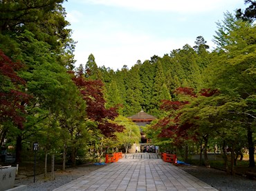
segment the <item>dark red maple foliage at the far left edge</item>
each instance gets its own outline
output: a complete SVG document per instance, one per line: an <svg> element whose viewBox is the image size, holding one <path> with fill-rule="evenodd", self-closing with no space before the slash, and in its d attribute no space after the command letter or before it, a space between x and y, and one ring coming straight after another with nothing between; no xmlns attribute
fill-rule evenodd
<svg viewBox="0 0 256 191"><path fill-rule="evenodd" d="M26 81L20 78L15 71L21 69L22 65L19 62L12 62L0 50L0 75L3 79L6 78L16 86L15 89L8 87L10 84L1 84L0 87L0 122L12 121L20 129L23 128L25 121L24 107L28 104L31 96L27 93L19 91L18 84L26 84ZM7 81L8 81L7 80Z"/></svg>

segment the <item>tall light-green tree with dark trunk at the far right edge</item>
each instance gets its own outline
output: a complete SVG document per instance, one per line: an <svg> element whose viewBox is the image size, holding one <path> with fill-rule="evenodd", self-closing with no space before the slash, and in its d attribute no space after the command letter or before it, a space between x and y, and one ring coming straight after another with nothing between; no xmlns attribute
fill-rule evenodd
<svg viewBox="0 0 256 191"><path fill-rule="evenodd" d="M255 25L236 19L229 12L223 23L218 24L214 41L218 45L214 62L208 71L211 87L218 88L221 93L230 97L230 104L236 105L231 111L234 120L244 123L248 134L250 166L255 166L253 132L255 128L255 112L248 100L255 98ZM227 106L230 104L226 104Z"/></svg>

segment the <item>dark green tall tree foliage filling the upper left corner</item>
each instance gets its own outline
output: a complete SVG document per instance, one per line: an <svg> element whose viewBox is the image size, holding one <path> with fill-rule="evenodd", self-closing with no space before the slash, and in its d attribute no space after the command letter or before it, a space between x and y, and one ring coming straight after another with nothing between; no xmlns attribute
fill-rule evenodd
<svg viewBox="0 0 256 191"><path fill-rule="evenodd" d="M73 69L74 44L71 30L67 28L63 0L51 1L1 1L0 48L9 57L16 58L21 51L16 35L25 30L35 35L35 39L46 42L55 51L60 64Z"/></svg>

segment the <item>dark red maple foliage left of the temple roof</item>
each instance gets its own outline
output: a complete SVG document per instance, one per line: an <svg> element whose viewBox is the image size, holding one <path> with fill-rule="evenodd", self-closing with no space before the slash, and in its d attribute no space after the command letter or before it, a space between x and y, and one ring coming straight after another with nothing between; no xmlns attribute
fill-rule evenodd
<svg viewBox="0 0 256 191"><path fill-rule="evenodd" d="M103 95L103 83L100 80L86 80L82 73L74 75L73 82L80 89L83 99L86 101L86 113L88 118L98 122L98 129L105 136L113 136L113 132L122 131L123 127L107 122L107 119L113 120L118 116L116 108L106 109Z"/></svg>

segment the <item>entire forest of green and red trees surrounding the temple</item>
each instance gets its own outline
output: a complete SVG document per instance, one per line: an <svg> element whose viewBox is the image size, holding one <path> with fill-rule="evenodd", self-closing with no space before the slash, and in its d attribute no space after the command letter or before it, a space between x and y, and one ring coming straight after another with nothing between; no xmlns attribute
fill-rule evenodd
<svg viewBox="0 0 256 191"><path fill-rule="evenodd" d="M12 146L16 163L33 153L33 143L45 161L61 158L63 169L98 160L128 134L139 142L127 116L143 109L158 118L143 131L162 148L188 158L197 147L207 165L210 145L224 160L228 146L231 171L246 148L255 167L255 1L223 15L214 50L199 36L118 71L98 67L93 54L75 68L63 1L0 1L0 144Z"/></svg>

